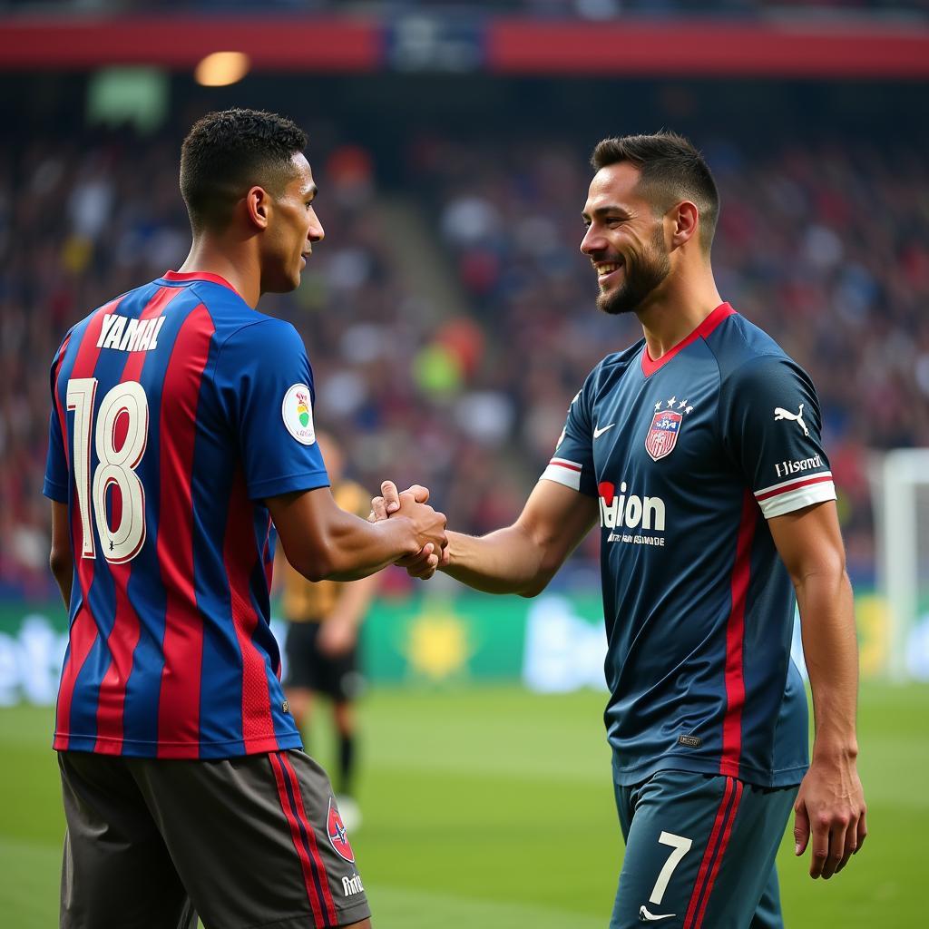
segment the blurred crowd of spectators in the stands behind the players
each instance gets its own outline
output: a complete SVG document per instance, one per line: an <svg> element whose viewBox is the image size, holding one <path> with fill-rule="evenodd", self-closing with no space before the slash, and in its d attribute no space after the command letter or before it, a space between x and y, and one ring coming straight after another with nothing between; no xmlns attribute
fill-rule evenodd
<svg viewBox="0 0 929 929"><path fill-rule="evenodd" d="M917 147L748 157L703 142L723 198L720 291L817 383L850 565L868 574L870 451L929 445L929 168ZM584 376L639 337L635 318L594 308L577 248L587 155L417 137L405 184L385 191L373 152L310 151L326 240L300 289L262 307L304 335L317 424L372 491L424 483L459 530L511 520ZM47 371L63 334L188 245L177 140L0 147L0 595L49 589ZM579 569L593 556L592 539Z"/></svg>

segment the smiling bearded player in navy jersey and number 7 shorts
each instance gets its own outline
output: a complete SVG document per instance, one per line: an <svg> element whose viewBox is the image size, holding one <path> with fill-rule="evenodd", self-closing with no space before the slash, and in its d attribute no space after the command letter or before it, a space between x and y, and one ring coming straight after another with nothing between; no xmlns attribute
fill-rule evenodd
<svg viewBox="0 0 929 929"><path fill-rule="evenodd" d="M866 834L852 593L818 399L716 290L719 200L700 153L660 133L605 139L592 162L581 250L597 305L634 312L645 337L587 377L512 526L450 532L407 567L533 596L598 524L626 842L610 926L774 929L791 807L814 878L842 870ZM386 484L373 508L397 504Z"/></svg>

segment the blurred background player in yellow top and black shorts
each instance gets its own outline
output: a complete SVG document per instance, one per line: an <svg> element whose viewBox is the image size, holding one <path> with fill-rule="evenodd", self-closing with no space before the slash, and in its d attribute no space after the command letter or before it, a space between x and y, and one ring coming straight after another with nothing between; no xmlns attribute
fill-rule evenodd
<svg viewBox="0 0 929 929"><path fill-rule="evenodd" d="M328 433L318 432L316 441L332 481L335 503L348 513L367 517L368 492L343 478L342 449ZM355 700L362 685L358 639L377 590L377 579L372 576L349 583L307 581L291 568L280 550L274 576L276 584L281 585L281 609L288 623L284 696L294 723L305 736L311 727L315 698L322 695L332 700L338 737L336 801L347 830L354 831L361 824L354 789L358 727Z"/></svg>

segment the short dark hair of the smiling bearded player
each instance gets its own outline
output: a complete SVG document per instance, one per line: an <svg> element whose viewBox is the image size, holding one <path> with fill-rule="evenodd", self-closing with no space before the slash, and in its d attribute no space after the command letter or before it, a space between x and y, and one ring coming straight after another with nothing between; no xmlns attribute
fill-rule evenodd
<svg viewBox="0 0 929 929"><path fill-rule="evenodd" d="M700 210L700 244L710 251L719 218L719 191L706 160L687 138L661 131L651 136L605 138L590 163L597 169L629 162L641 172L639 189L663 213L689 200Z"/></svg>

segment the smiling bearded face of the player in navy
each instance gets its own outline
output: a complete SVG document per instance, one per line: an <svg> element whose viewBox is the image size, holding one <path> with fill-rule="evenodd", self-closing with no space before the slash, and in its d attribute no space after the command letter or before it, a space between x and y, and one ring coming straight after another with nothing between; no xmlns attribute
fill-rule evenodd
<svg viewBox="0 0 929 929"><path fill-rule="evenodd" d="M629 162L601 168L583 209L581 251L594 266L604 313L635 312L671 273L664 217L639 192L639 177Z"/></svg>

